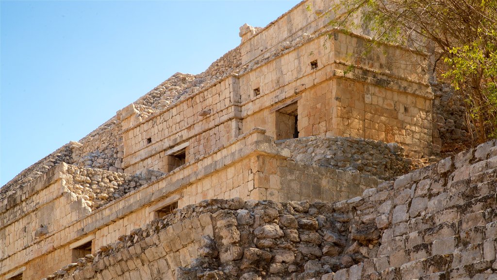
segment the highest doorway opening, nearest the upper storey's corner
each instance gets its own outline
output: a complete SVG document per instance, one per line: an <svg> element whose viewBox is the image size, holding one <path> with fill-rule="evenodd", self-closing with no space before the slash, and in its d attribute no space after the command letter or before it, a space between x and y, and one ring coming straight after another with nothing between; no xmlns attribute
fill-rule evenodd
<svg viewBox="0 0 497 280"><path fill-rule="evenodd" d="M276 114L276 140L299 138L297 102L278 111Z"/></svg>

